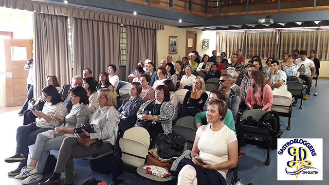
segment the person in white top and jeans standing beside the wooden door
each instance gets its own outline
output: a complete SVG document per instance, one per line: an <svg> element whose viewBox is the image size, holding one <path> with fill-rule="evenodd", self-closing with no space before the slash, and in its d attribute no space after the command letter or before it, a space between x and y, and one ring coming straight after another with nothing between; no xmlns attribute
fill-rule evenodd
<svg viewBox="0 0 329 185"><path fill-rule="evenodd" d="M24 115L24 111L27 110L27 107L29 105L29 100L33 98L33 85L34 85L34 65L33 65L33 58L27 60L27 64L25 64L24 66L25 70L28 70L28 75L27 75L27 96L26 96L26 100L25 103L22 106L21 111L18 113L19 116L23 116Z"/></svg>

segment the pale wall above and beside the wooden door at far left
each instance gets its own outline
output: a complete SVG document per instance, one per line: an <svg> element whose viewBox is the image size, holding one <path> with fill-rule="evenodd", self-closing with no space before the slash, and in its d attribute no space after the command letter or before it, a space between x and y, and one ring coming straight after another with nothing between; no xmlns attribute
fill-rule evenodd
<svg viewBox="0 0 329 185"><path fill-rule="evenodd" d="M0 10L0 12L3 12ZM0 31L13 32L14 39L32 39L33 20L32 13L0 13L1 28ZM6 77L0 74L0 107L6 106Z"/></svg>

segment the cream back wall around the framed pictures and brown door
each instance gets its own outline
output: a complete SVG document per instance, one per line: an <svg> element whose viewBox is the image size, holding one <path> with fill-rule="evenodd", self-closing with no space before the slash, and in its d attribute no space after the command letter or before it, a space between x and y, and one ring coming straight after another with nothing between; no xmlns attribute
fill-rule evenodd
<svg viewBox="0 0 329 185"><path fill-rule="evenodd" d="M202 31L200 29L178 28L174 26L164 26L165 29L157 32L157 47L158 47L158 65L162 59L167 59L169 55L169 36L178 36L178 50L177 54L171 54L173 61L181 60L185 56L186 51L186 31L196 31L197 41L196 50L199 55L211 55L211 51L216 48L216 32ZM202 49L203 39L209 39L209 49Z"/></svg>

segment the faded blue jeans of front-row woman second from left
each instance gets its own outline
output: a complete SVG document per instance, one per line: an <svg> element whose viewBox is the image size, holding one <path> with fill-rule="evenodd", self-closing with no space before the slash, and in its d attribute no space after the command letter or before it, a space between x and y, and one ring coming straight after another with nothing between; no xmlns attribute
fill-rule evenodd
<svg viewBox="0 0 329 185"><path fill-rule="evenodd" d="M36 137L34 150L31 159L35 159L38 161L36 165L36 169L38 173L42 174L45 168L49 151L53 149L60 149L63 140L66 136L61 135L54 138L48 138L47 136L42 135L42 133L38 134Z"/></svg>

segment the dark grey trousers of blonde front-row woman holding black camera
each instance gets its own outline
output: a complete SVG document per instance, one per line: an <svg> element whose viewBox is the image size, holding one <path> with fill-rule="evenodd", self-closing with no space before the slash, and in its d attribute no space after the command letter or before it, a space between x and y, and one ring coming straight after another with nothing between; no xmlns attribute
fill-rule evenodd
<svg viewBox="0 0 329 185"><path fill-rule="evenodd" d="M104 143L98 147L90 147L89 149L83 149L78 143L76 137L66 137L61 145L60 152L58 154L58 160L54 173L61 174L65 169L65 183L70 184L74 182L74 158L83 158L92 156L94 154L103 154L111 149L110 143Z"/></svg>

